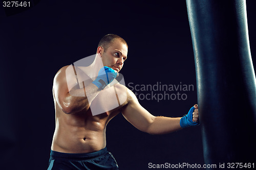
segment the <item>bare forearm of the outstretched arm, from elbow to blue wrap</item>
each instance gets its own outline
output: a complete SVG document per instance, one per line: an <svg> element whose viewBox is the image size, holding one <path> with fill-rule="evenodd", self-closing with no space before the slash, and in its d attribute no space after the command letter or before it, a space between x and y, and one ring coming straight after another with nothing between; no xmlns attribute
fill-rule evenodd
<svg viewBox="0 0 256 170"><path fill-rule="evenodd" d="M148 127L147 133L150 134L166 134L178 131L182 129L180 127L181 117L172 118L172 117L163 117L156 116L154 121Z"/></svg>

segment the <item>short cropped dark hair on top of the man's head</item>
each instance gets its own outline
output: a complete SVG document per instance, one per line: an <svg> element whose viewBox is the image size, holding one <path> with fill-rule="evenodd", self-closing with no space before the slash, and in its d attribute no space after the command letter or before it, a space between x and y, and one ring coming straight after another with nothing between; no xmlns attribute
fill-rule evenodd
<svg viewBox="0 0 256 170"><path fill-rule="evenodd" d="M104 37L102 37L101 40L99 41L98 47L101 46L101 47L104 48L104 51L106 51L106 50L108 50L109 46L116 39L118 39L119 41L121 41L122 43L124 43L128 47L126 41L123 38L121 38L120 36L115 35L115 34L108 34L108 35L105 35Z"/></svg>

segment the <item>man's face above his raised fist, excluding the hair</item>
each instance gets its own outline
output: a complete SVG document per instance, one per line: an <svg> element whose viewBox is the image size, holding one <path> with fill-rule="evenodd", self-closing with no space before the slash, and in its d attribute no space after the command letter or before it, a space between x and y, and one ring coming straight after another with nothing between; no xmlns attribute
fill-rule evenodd
<svg viewBox="0 0 256 170"><path fill-rule="evenodd" d="M109 48L101 54L102 63L104 66L113 68L116 71L120 71L123 67L123 62L127 58L128 48L119 40L115 40L110 44Z"/></svg>

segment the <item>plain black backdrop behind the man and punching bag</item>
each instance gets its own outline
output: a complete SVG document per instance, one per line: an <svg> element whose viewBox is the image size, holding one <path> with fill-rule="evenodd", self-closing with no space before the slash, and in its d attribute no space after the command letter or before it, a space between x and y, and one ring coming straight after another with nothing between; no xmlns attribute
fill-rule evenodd
<svg viewBox="0 0 256 170"><path fill-rule="evenodd" d="M121 70L126 85L194 85L194 91L185 92L186 100L139 100L153 115L182 116L197 103L185 1L44 0L31 6L27 10L0 7L3 169L47 169L55 128L53 78L62 66L95 54L105 34L117 34L129 45ZM256 2L247 1L253 63L255 14ZM204 163L200 126L150 135L119 114L109 123L106 137L120 169L148 169L150 162Z"/></svg>

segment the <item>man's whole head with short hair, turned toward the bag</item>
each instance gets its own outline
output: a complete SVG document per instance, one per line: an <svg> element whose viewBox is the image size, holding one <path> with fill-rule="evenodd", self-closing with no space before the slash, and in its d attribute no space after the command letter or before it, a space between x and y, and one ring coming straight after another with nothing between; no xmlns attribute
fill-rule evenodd
<svg viewBox="0 0 256 170"><path fill-rule="evenodd" d="M127 58L127 52L128 45L125 40L114 34L108 34L101 38L97 48L97 54L101 56L103 65L118 72Z"/></svg>

